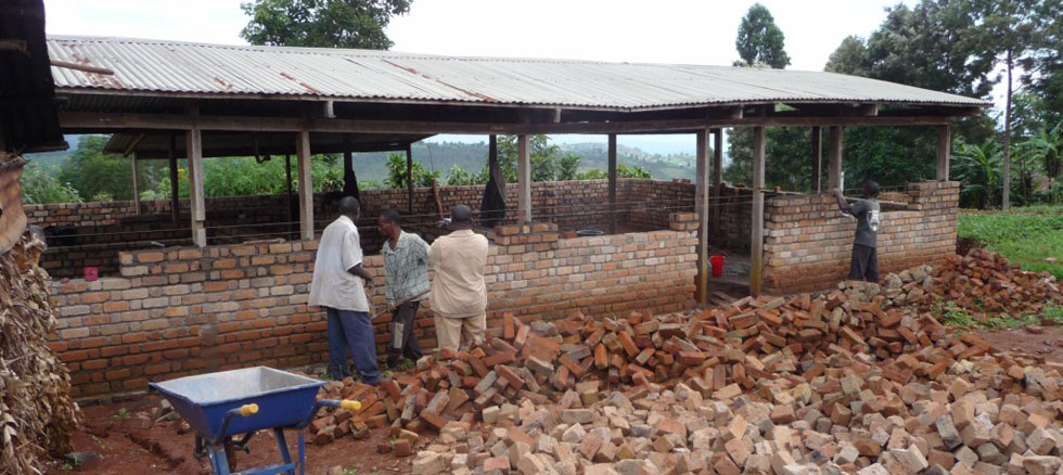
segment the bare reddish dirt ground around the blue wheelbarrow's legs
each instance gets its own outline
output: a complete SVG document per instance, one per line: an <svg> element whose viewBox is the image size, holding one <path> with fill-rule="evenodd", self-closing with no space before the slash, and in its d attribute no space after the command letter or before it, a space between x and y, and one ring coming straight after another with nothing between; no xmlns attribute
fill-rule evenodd
<svg viewBox="0 0 1063 475"><path fill-rule="evenodd" d="M92 452L99 460L86 460L80 470L64 466L62 461L54 462L46 472L47 475L142 475L165 473L172 475L209 475L209 465L204 459L197 461L192 455L194 436L192 433L178 434L177 423L161 422L148 429L131 427L132 424L120 424L116 414L123 409L131 414L131 421L138 413L150 412L156 405L156 398L144 397L131 401L110 405L95 405L84 408L85 424L81 431L74 434L74 448L78 452ZM333 466L354 468L348 474L397 474L411 471L412 458L396 458L390 453L381 454L376 446L387 439L388 431L375 429L372 436L364 440L355 440L350 436L341 438L324 446L307 444L307 474L324 475ZM294 432L286 434L289 448L293 457L296 452L296 436ZM422 437L418 446L425 445ZM280 462L277 442L272 434L260 432L248 445L251 453L239 452L236 470L260 466Z"/></svg>

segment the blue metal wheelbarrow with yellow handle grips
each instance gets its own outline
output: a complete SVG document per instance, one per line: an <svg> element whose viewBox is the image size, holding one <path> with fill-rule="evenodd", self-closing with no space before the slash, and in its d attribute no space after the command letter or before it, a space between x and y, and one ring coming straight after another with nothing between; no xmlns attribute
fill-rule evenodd
<svg viewBox="0 0 1063 475"><path fill-rule="evenodd" d="M215 475L304 475L303 428L322 407L361 409L351 400L316 401L324 382L272 368L257 367L151 383L195 431L195 458L207 457ZM284 429L298 432L298 459L292 460ZM282 463L231 473L235 450L248 451L258 431L272 429ZM239 440L235 436L243 435ZM233 461L234 462L234 461Z"/></svg>

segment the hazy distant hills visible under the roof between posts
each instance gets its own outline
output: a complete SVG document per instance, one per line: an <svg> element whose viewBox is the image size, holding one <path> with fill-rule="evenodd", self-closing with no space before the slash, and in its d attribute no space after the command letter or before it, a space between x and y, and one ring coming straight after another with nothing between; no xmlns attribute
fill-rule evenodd
<svg viewBox="0 0 1063 475"><path fill-rule="evenodd" d="M604 143L560 144L562 153L579 156L581 170L602 169L609 166ZM618 145L617 162L639 166L650 171L654 179L694 178L693 155L650 154L640 149ZM401 152L399 152L401 153ZM478 171L487 159L487 143L420 142L413 144L413 159L425 168L436 169L446 177L451 167L458 165L466 171ZM387 177L387 153L355 154L355 171L361 180L383 181Z"/></svg>

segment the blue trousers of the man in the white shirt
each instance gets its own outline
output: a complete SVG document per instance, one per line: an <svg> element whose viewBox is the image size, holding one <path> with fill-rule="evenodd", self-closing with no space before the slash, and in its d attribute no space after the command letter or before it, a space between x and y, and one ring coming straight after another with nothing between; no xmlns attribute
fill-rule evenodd
<svg viewBox="0 0 1063 475"><path fill-rule="evenodd" d="M381 381L376 368L376 342L373 324L364 311L337 310L325 307L329 314L329 375L335 381L350 376L348 352L355 359L355 368L366 384Z"/></svg>

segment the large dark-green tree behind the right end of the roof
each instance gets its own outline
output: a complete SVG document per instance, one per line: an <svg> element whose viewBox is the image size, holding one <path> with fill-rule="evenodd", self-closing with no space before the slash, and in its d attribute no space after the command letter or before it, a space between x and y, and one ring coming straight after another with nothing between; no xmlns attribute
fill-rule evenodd
<svg viewBox="0 0 1063 475"><path fill-rule="evenodd" d="M969 97L987 97L995 78L987 60L979 13L972 0L922 0L898 4L867 39L845 38L824 69ZM956 137L983 143L995 133L986 117L952 121ZM902 184L934 178L933 131L922 127L857 127L845 132L846 181L874 179Z"/></svg>

